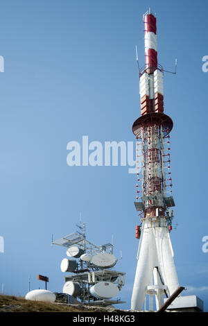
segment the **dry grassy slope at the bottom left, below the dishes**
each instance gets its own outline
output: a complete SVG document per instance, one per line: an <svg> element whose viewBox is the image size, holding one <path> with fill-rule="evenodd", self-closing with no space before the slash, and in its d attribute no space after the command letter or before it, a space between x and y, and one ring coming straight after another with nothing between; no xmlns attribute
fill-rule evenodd
<svg viewBox="0 0 208 326"><path fill-rule="evenodd" d="M25 300L14 295L0 295L0 312L94 312L73 305Z"/></svg>

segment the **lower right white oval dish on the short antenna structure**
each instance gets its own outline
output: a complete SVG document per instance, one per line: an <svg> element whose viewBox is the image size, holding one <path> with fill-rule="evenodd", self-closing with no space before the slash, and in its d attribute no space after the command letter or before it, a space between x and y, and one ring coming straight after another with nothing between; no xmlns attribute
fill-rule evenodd
<svg viewBox="0 0 208 326"><path fill-rule="evenodd" d="M89 292L97 299L110 299L119 295L119 288L111 282L98 282L89 289Z"/></svg>

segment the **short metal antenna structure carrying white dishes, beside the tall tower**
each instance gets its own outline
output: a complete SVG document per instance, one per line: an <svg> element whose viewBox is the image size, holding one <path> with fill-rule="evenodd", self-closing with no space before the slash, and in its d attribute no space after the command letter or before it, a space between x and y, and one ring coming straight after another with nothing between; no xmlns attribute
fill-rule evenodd
<svg viewBox="0 0 208 326"><path fill-rule="evenodd" d="M68 258L62 259L60 268L63 273L71 274L64 277L62 293L83 304L124 303L119 298L112 300L125 284L125 273L112 270L118 261L113 255L113 244L95 246L86 239L85 223L80 220L76 227L78 232L52 242L67 248Z"/></svg>

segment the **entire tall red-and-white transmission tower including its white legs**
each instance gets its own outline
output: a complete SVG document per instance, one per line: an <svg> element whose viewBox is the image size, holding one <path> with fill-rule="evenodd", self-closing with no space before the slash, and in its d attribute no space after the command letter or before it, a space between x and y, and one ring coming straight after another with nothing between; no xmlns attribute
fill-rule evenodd
<svg viewBox="0 0 208 326"><path fill-rule="evenodd" d="M179 286L170 239L173 218L170 207L175 206L169 153L173 121L164 114L164 70L157 62L156 17L148 10L143 19L145 66L139 69L141 117L132 126L137 153L141 151L143 160L141 171L137 168L135 207L141 225L137 226L136 237L140 234L141 237L132 291L133 310L142 309L146 294L151 299L155 295L159 309L164 295L171 295Z"/></svg>

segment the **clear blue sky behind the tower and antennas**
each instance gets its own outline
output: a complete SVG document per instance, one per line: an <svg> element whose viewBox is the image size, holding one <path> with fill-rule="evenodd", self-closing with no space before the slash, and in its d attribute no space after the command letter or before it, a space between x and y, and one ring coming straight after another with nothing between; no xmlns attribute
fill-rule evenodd
<svg viewBox="0 0 208 326"><path fill-rule="evenodd" d="M208 311L207 1L7 0L0 1L0 284L25 295L44 286L62 291L64 248L51 246L75 230L79 214L87 237L110 242L116 270L126 272L121 299L130 308L137 264L139 217L136 176L128 166L67 165L67 143L133 141L144 64L142 15L157 13L158 61L177 74L164 76L164 110L174 122L171 172L177 230L171 232L184 294L196 294Z"/></svg>

